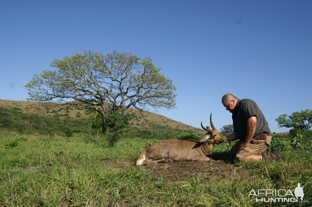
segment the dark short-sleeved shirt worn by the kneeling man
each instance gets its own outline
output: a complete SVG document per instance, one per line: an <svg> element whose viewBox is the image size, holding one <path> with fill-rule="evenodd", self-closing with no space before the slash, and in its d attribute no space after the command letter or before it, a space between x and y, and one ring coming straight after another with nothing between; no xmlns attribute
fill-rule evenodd
<svg viewBox="0 0 312 207"><path fill-rule="evenodd" d="M244 141L247 135L247 120L256 116L257 118L257 126L256 132L253 136L256 136L262 132L266 134L270 134L270 128L268 123L266 122L266 118L258 105L251 99L238 99L237 105L232 112L233 119L233 129L236 132L237 137Z"/></svg>

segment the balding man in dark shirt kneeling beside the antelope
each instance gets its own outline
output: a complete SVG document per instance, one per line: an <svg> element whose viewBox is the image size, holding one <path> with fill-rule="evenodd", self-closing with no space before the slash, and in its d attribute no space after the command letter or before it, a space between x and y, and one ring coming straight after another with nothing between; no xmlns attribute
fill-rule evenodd
<svg viewBox="0 0 312 207"><path fill-rule="evenodd" d="M223 106L232 113L233 131L227 136L228 141L239 139L230 154L236 160L280 160L285 159L281 154L272 149L268 152L271 144L271 131L266 119L258 105L251 99L237 99L232 94L225 94L222 97ZM220 144L216 142L216 144ZM262 152L264 154L260 155Z"/></svg>

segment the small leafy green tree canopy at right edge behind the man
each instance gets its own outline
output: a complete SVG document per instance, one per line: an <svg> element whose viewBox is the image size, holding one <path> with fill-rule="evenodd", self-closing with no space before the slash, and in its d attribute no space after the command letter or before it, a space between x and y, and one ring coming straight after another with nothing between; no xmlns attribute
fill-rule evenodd
<svg viewBox="0 0 312 207"><path fill-rule="evenodd" d="M308 131L312 123L312 110L306 109L305 111L296 111L289 115L288 118L287 114L281 114L275 121L277 121L279 127L304 129Z"/></svg>

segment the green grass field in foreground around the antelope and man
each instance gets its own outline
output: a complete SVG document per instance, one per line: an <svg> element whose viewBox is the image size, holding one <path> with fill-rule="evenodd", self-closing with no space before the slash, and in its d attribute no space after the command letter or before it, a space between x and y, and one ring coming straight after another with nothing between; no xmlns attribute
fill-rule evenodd
<svg viewBox="0 0 312 207"><path fill-rule="evenodd" d="M6 147L14 133L0 134L1 206L276 206L256 203L250 190L293 191L308 181L304 200L312 204L309 150L285 150L286 161L236 163L227 156L231 143L216 146L210 162L136 167L148 140L106 148L88 137L27 137Z"/></svg>

